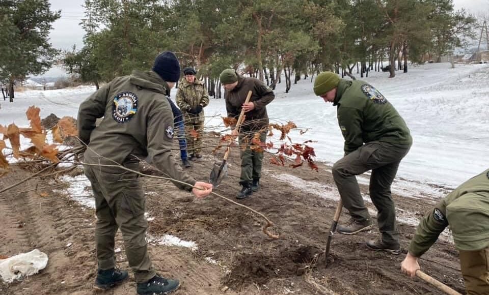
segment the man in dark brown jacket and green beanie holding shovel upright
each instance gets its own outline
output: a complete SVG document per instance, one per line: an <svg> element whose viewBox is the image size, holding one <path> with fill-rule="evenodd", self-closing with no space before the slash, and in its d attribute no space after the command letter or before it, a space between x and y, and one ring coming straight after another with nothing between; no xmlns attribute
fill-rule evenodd
<svg viewBox="0 0 489 295"><path fill-rule="evenodd" d="M266 105L274 100L275 94L262 81L256 78L241 77L232 69L224 70L219 78L225 89L224 98L228 117L237 120L241 109L245 113L245 119L239 128L239 143L246 145L246 149L241 149L239 184L242 189L236 196L238 199L244 199L260 188L263 152L251 150L250 143L257 132L260 132L260 141L265 142L268 128ZM245 104L244 101L249 91L252 91L253 94L250 102ZM238 135L236 128L233 129L232 135Z"/></svg>

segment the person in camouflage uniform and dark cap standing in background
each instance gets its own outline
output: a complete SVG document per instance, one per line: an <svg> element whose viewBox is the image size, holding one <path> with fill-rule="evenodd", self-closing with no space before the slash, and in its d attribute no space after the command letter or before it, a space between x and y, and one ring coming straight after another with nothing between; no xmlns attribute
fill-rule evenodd
<svg viewBox="0 0 489 295"><path fill-rule="evenodd" d="M204 83L195 77L194 68L183 69L184 79L180 81L177 91L177 105L183 113L187 150L189 159L202 158L202 130L204 129L204 107L209 104L209 95ZM192 132L197 132L197 136Z"/></svg>

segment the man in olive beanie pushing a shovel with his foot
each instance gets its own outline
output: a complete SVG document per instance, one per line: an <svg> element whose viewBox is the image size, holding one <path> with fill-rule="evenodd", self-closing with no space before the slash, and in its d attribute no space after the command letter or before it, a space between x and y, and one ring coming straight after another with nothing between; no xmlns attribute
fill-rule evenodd
<svg viewBox="0 0 489 295"><path fill-rule="evenodd" d="M372 85L361 80L340 79L332 72L320 73L314 93L337 107L338 124L345 139L344 157L332 168L333 178L351 215L338 232L356 234L372 226L360 194L356 175L368 170L370 198L377 209L382 238L366 243L376 251L400 253L391 184L401 159L408 154L412 138L394 106Z"/></svg>

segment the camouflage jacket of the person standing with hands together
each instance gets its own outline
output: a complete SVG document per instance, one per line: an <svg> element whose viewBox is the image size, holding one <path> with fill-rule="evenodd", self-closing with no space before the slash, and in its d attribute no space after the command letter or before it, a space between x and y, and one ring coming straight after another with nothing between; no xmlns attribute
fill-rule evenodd
<svg viewBox="0 0 489 295"><path fill-rule="evenodd" d="M193 108L195 109L198 105L201 105L202 108L204 108L209 104L207 88L202 81L197 78L195 78L194 83L189 83L186 79L180 80L178 83L176 101L178 107L182 110L184 116L183 120L185 120L185 122L188 122L188 120L204 121L204 110L199 114L188 112Z"/></svg>

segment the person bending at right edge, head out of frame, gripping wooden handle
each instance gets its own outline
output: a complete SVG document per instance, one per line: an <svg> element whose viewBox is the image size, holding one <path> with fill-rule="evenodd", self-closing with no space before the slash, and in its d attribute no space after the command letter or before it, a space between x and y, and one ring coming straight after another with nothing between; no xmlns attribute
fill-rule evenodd
<svg viewBox="0 0 489 295"><path fill-rule="evenodd" d="M450 226L469 295L489 294L489 169L461 184L421 219L402 272L414 277L418 258Z"/></svg>

